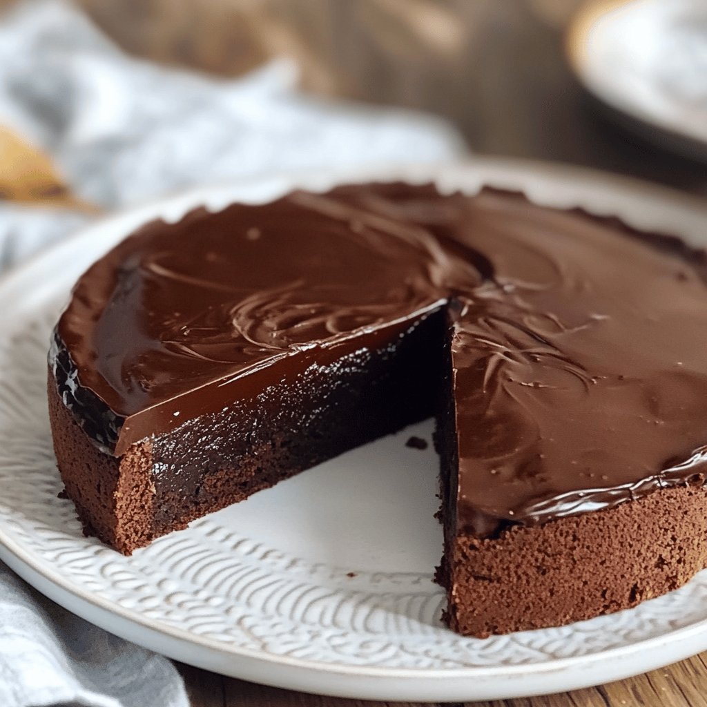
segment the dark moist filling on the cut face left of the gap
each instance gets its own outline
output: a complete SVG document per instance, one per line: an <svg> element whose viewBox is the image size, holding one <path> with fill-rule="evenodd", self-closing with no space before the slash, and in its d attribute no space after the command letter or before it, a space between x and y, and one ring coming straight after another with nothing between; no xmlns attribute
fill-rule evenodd
<svg viewBox="0 0 707 707"><path fill-rule="evenodd" d="M222 469L233 477L291 476L434 414L444 312L406 327L380 348L324 361L255 399L234 399L152 443L156 521L199 496ZM410 385L410 381L416 385Z"/></svg>

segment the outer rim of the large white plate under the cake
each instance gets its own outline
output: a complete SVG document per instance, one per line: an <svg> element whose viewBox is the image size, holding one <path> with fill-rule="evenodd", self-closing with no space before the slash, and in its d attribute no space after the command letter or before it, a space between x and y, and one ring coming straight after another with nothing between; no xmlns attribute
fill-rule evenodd
<svg viewBox="0 0 707 707"><path fill-rule="evenodd" d="M645 198L647 193L652 192L657 199L670 201L676 206L681 204L686 209L694 210L696 214L699 214L700 218L707 218L707 209L699 199L689 197L682 194L682 192L677 192L667 187L658 187L632 177L621 177L603 173L599 170L562 165L560 163L538 163L532 160L477 158L451 165L378 165L367 169L332 170L326 174L320 173L317 174L315 181L321 178L325 182L334 183L375 178L395 179L396 177L407 177L411 180L429 180L440 177L443 172L454 173L455 170L461 174L476 175L479 181L488 185L513 188L515 184L517 189L523 188L520 182L532 180L533 176L538 174L551 181L571 176L580 182L580 185L575 187L576 191L583 189L582 182L586 185L597 185L597 182L602 182L604 186L614 185L617 191L624 194L633 193L637 197L642 195ZM294 187L298 182L308 182L315 175L312 171L292 170L286 173L279 173L274 175L274 177L281 178L284 182L291 183L292 187ZM263 180L269 178L273 178L273 175L262 175ZM255 177L247 180L248 183L255 181L257 181ZM189 190L189 192L153 200L147 204L101 218L78 230L75 235L30 258L21 267L0 278L0 301L11 296L13 289L21 286L28 277L33 275L35 270L48 267L57 257L70 254L83 239L88 238L94 232L102 230L109 224L115 225L121 221L141 221L142 218L154 218L154 214L168 210L171 205L198 204L208 199L210 194L228 192L231 189L235 190L239 186L242 187L244 183L245 180L234 180L223 185L198 187L197 189ZM530 187L525 188L527 191L532 192ZM187 206L187 209L189 207ZM3 315L2 318L6 318L6 315ZM230 670L228 665L221 665L218 668L219 672L231 674L234 677L256 679L258 682L275 686L320 691L322 694L335 694L363 699L417 699L418 701L421 699L438 701L440 699L438 692L440 688L443 689L444 693L442 699L469 699L469 696L471 696L471 699L503 699L513 696L548 694L551 691L575 689L598 684L599 682L609 682L610 680L629 677L639 672L645 672L645 670L653 670L662 665L667 665L676 660L682 660L689 655L694 655L701 650L707 649L707 619L703 619L689 626L674 629L662 636L645 638L630 645L609 648L588 655L555 658L525 665L411 669L324 663L317 660L274 655L249 648L229 647L218 643L218 641L213 641L203 636L195 636L188 631L183 631L173 626L160 624L148 617L141 616L138 611L112 604L110 601L103 599L103 597L96 596L92 592L83 590L80 586L64 580L59 573L50 571L45 566L42 566L30 551L25 551L22 545L13 539L11 532L7 532L2 524L0 524L0 559L3 559L8 566L11 566L14 571L28 580L30 584L41 585L42 593L45 593L52 600L62 604L70 611L81 615L85 612L86 605L88 605L89 614L95 609L99 614L105 614L105 616L99 615L98 620L95 620L95 616L87 620L93 621L107 631L127 638L129 641L134 641L135 637L130 635L131 631L128 629L131 627L139 628L142 635L136 642L177 660L216 670L213 660L197 659L188 655L185 651L187 646L198 645L199 648L204 648L210 653L216 653L232 660L243 659L251 664L246 666L250 667L251 670L252 664L255 662L266 669L267 667L278 667L294 670L300 673L300 678L304 677L303 673L310 674L314 679L322 679L324 677L334 678L335 680L343 679L344 677L349 678L346 682L342 682L340 686L337 683L331 683L329 686L322 686L322 689L319 689L317 684L312 684L307 679L296 679L296 674L293 672L290 672L289 676L286 675L285 679L282 679L276 676L270 677L267 672L262 673L257 670L244 673L245 668L237 665L236 662L233 663L235 670ZM110 621L112 618L119 619L121 624L124 625L112 626ZM175 645L170 648L165 643L165 641L175 640L183 645ZM674 650L667 658L662 658L660 652L667 648L668 645L672 645L674 648L682 648L682 650ZM177 650L173 650L173 648L177 648ZM645 657L645 653L648 652L650 652L648 655L650 660L646 660ZM637 654L643 654L640 667L630 663L631 658ZM609 664L609 669L604 672L604 677L597 679L596 675L583 674L583 672L590 672L588 668L602 664ZM553 674L562 678L561 684L553 686L543 682L544 679ZM493 680L512 678L522 678L523 684L518 684L518 680L516 680L515 686L508 684L501 689L498 686L479 684L479 681L487 683ZM375 682L366 688L358 684L362 679L371 679ZM403 686L402 682L396 682L402 679L404 679L407 686ZM443 685L438 684L440 681L449 680L459 682L456 684L448 684L447 682ZM423 689L424 683L427 683L426 689ZM426 694L421 694L421 692Z"/></svg>

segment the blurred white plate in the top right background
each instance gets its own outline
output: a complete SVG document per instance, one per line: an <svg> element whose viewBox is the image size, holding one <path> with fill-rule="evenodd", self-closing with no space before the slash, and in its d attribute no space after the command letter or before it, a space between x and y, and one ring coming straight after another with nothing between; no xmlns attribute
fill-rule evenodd
<svg viewBox="0 0 707 707"><path fill-rule="evenodd" d="M612 117L707 160L705 0L595 0L575 17L568 53Z"/></svg>

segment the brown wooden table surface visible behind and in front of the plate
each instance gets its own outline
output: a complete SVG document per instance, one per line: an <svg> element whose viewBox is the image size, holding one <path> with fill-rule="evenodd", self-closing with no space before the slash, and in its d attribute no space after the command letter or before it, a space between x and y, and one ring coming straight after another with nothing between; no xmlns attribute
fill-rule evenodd
<svg viewBox="0 0 707 707"><path fill-rule="evenodd" d="M158 61L238 76L288 54L308 90L435 112L474 152L589 165L707 197L705 165L588 110L562 46L580 0L80 1L126 49ZM374 704L180 671L193 707ZM707 653L592 689L477 704L707 707Z"/></svg>

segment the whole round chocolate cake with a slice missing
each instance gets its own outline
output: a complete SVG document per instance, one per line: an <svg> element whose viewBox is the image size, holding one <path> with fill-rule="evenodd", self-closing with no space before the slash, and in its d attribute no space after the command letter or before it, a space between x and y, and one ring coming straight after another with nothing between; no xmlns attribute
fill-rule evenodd
<svg viewBox="0 0 707 707"><path fill-rule="evenodd" d="M149 223L54 331L66 493L130 554L434 415L450 628L631 607L707 566L706 283L677 238L493 189Z"/></svg>

